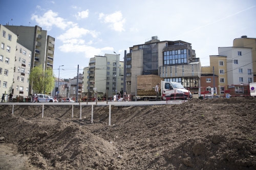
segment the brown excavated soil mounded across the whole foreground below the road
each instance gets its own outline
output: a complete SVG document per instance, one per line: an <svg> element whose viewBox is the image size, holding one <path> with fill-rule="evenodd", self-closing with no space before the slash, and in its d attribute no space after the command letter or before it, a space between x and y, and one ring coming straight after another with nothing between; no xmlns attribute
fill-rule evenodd
<svg viewBox="0 0 256 170"><path fill-rule="evenodd" d="M1 147L30 169L256 169L255 98L111 109L0 105Z"/></svg>

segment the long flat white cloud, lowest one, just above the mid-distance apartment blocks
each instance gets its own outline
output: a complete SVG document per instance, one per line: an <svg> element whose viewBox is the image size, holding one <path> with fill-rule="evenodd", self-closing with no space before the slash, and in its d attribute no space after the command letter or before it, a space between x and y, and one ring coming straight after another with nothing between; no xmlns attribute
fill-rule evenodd
<svg viewBox="0 0 256 170"><path fill-rule="evenodd" d="M65 53L84 53L86 58L94 57L94 55L104 55L103 51L113 51L113 47L95 48L87 45L63 44L59 46L60 51Z"/></svg>

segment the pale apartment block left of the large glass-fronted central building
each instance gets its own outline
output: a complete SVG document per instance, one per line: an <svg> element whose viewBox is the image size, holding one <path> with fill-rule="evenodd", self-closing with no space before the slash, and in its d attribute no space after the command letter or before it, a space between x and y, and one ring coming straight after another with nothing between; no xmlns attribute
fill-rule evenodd
<svg viewBox="0 0 256 170"><path fill-rule="evenodd" d="M99 95L108 89L109 94L116 94L123 89L123 63L120 55L105 54L90 59L89 67L83 70L84 95L94 92L96 88Z"/></svg>

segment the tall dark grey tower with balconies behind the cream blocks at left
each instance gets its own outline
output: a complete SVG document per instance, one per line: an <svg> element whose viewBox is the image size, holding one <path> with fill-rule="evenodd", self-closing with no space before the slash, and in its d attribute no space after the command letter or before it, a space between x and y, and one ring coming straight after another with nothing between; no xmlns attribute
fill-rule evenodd
<svg viewBox="0 0 256 170"><path fill-rule="evenodd" d="M53 68L55 38L47 35L41 27L5 26L18 35L17 42L31 51L31 68L42 65L43 69ZM30 90L29 93L32 93Z"/></svg>

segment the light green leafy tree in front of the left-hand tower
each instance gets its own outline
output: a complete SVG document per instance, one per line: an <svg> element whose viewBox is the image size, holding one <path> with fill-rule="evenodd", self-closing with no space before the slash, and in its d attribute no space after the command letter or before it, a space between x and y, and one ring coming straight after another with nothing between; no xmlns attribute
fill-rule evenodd
<svg viewBox="0 0 256 170"><path fill-rule="evenodd" d="M29 75L29 84L33 90L38 93L51 92L54 89L54 74L52 68L45 71L42 65L35 66L31 69Z"/></svg>

